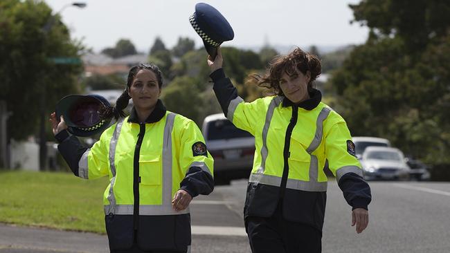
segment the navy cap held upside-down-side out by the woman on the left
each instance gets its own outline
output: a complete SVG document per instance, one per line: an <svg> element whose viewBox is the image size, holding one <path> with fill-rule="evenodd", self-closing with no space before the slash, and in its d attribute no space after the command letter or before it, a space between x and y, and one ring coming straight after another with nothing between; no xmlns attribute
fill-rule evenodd
<svg viewBox="0 0 450 253"><path fill-rule="evenodd" d="M60 120L60 116L64 116L70 133L87 137L109 127L111 118L102 118L100 111L110 106L100 95L66 95L56 105L56 118Z"/></svg>

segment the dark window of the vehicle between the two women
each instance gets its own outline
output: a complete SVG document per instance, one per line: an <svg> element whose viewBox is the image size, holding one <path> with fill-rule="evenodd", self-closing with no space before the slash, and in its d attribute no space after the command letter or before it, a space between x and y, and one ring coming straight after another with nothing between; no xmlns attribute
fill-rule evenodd
<svg viewBox="0 0 450 253"><path fill-rule="evenodd" d="M208 124L208 140L253 137L249 132L238 129L229 120L215 120Z"/></svg>

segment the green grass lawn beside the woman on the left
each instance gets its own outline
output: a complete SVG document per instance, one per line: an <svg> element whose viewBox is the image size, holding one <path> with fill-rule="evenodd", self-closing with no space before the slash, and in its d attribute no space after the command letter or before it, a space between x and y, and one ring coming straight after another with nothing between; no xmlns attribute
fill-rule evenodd
<svg viewBox="0 0 450 253"><path fill-rule="evenodd" d="M62 172L0 171L0 222L105 234L108 183Z"/></svg>

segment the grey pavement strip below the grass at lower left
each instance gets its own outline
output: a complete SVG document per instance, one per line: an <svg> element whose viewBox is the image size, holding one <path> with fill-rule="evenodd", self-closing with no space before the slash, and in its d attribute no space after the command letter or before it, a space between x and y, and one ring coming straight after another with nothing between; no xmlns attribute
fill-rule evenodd
<svg viewBox="0 0 450 253"><path fill-rule="evenodd" d="M107 253L107 236L0 223L0 253Z"/></svg>

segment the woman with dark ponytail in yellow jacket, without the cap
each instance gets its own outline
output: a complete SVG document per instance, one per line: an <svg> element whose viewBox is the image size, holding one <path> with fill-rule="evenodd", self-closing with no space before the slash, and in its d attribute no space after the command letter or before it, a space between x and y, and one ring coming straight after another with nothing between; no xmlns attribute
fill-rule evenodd
<svg viewBox="0 0 450 253"><path fill-rule="evenodd" d="M109 176L104 194L111 252L190 252L189 203L214 188L213 158L197 124L165 109L163 77L154 64L130 69L116 106L100 112L116 119L91 149L51 115L58 149L75 176ZM129 116L123 110L129 100Z"/></svg>

